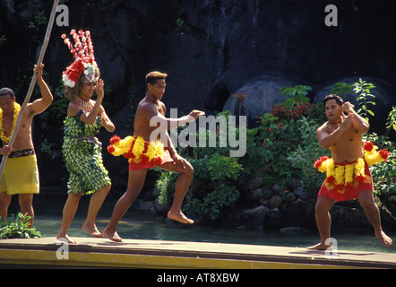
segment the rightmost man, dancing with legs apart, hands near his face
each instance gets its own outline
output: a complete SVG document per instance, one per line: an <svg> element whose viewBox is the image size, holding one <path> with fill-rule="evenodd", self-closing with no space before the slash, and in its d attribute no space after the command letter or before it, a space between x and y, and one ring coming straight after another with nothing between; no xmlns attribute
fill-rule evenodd
<svg viewBox="0 0 396 287"><path fill-rule="evenodd" d="M368 131L369 125L351 103L344 103L338 95L331 94L324 98L323 104L329 120L317 129L316 135L319 144L331 151L332 159L322 157L315 162L315 168L326 172L315 206L321 242L308 249L331 248L329 210L337 201L356 198L373 225L375 236L385 247L390 247L392 239L383 232L368 169L368 166L386 161L389 152L376 152L373 143L362 144L362 135Z"/></svg>

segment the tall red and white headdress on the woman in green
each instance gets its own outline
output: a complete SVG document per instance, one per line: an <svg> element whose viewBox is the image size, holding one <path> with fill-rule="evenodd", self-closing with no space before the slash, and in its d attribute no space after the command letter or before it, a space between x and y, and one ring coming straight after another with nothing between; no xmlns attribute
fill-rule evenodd
<svg viewBox="0 0 396 287"><path fill-rule="evenodd" d="M92 83L95 79L95 67L98 66L95 62L95 56L93 53L93 45L90 40L90 31L79 30L78 33L75 30L70 31L70 35L73 36L74 46L70 39L66 38L63 34L61 37L64 39L65 44L70 49L70 52L75 58L72 65L69 65L63 76L62 80L66 86L73 88L78 82L82 73L85 75L86 83Z"/></svg>

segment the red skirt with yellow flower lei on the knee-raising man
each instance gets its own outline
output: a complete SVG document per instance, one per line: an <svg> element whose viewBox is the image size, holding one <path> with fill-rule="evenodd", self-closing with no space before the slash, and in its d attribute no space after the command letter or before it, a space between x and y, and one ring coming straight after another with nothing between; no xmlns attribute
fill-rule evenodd
<svg viewBox="0 0 396 287"><path fill-rule="evenodd" d="M115 135L110 139L108 152L114 156L124 155L128 159L130 171L152 169L173 161L163 143L148 142L142 136L129 135L121 139Z"/></svg>

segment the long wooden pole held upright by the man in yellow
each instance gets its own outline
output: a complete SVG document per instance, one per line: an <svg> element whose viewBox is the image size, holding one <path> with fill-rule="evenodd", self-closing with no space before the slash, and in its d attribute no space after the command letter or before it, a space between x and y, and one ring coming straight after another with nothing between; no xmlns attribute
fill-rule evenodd
<svg viewBox="0 0 396 287"><path fill-rule="evenodd" d="M51 16L49 17L49 21L48 21L46 37L44 38L43 46L41 47L37 65L40 65L43 62L44 55L46 54L49 37L51 36L52 27L54 26L56 8L57 8L58 3L59 3L59 0L54 0L54 5L52 7ZM33 73L33 77L31 78L31 81L30 81L28 93L26 94L25 100L23 100L23 104L21 106L21 111L18 114L18 118L15 123L15 128L13 130L13 135L11 136L10 142L8 143L8 145L11 147L13 146L13 142L15 141L16 135L18 135L18 131L19 131L19 128L21 126L21 121L22 121L22 114L30 101L31 94L33 93L33 89L36 84L36 81L37 81L37 75L36 75L36 73ZM7 161L7 159L8 159L8 155L4 155L3 160L0 164L0 178L3 177L3 171L4 171L4 167L5 167L5 162Z"/></svg>

